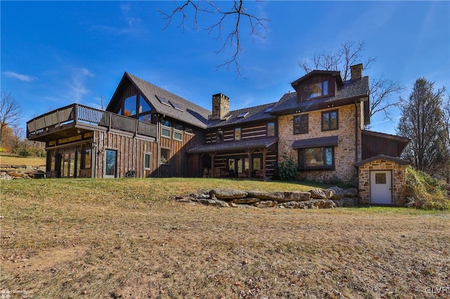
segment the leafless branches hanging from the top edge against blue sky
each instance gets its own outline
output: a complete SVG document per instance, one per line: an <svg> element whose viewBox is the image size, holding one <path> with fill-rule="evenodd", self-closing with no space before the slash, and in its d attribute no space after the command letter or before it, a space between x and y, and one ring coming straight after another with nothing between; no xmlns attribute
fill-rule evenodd
<svg viewBox="0 0 450 299"><path fill-rule="evenodd" d="M243 67L238 62L238 58L240 55L244 53L243 51L243 42L241 39L242 27L249 25L250 27L250 36L253 38L258 37L264 39L264 34L266 32L266 22L269 22L266 18L259 18L255 14L249 13L248 9L244 6L244 1L234 0L231 2L221 2L221 5L231 3L232 6L229 8L221 8L221 6L217 6L214 1L184 1L184 3L180 6L174 8L171 12L166 13L159 9L162 14L162 18L166 22L165 28L171 25L176 15L181 15L181 21L178 27L181 27L184 31L185 22L188 19L188 14L190 13L188 10L193 10L193 27L195 29L199 29L198 26L198 14L206 13L217 15L217 19L214 21L212 25L208 25L204 29L207 30L209 34L215 33L217 34L216 39L223 39L224 43L222 44L219 50L215 51L216 53L224 52L226 48L229 46L233 48L231 58L226 60L217 66L223 67L226 66L227 69L231 65L236 67L236 72L238 77L242 77L241 70ZM225 29L228 22L231 20L231 29L229 31Z"/></svg>

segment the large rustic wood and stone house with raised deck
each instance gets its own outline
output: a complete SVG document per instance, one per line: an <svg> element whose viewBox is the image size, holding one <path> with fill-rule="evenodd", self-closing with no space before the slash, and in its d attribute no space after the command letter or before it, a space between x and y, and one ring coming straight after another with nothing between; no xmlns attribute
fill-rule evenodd
<svg viewBox="0 0 450 299"><path fill-rule="evenodd" d="M27 138L46 142L48 178L271 178L293 157L304 179L354 182L362 202L401 204L409 140L365 130L369 81L361 64L351 69L348 81L314 70L276 102L233 111L223 93L210 111L125 72L105 111L56 109L28 121ZM368 187L380 182L389 200Z"/></svg>

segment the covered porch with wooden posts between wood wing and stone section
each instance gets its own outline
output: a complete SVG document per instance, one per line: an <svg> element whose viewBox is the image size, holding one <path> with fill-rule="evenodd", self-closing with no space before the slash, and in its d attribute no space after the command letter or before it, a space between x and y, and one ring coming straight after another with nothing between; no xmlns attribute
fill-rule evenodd
<svg viewBox="0 0 450 299"><path fill-rule="evenodd" d="M271 178L278 138L204 145L189 151L200 156L203 178Z"/></svg>

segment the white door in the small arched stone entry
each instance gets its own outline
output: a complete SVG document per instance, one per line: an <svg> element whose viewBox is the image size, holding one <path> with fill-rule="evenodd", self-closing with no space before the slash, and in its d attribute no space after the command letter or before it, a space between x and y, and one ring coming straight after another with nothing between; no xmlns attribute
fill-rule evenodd
<svg viewBox="0 0 450 299"><path fill-rule="evenodd" d="M392 204L392 171L371 171L371 204Z"/></svg>

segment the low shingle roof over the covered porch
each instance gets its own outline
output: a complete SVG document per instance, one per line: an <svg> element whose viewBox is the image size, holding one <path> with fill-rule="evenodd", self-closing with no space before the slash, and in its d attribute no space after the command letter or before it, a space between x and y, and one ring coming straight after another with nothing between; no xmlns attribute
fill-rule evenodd
<svg viewBox="0 0 450 299"><path fill-rule="evenodd" d="M189 151L190 154L202 153L202 152L226 152L231 150L247 150L254 148L270 147L278 141L276 137L260 138L253 140L240 140L233 142L221 142L214 145L203 145L201 147L195 147Z"/></svg>

